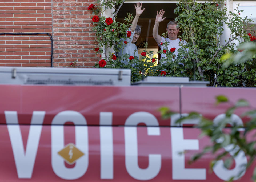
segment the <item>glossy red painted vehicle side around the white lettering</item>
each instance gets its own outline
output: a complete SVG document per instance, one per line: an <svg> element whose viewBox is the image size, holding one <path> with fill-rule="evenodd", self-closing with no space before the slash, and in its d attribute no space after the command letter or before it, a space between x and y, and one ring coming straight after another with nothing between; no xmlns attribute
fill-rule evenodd
<svg viewBox="0 0 256 182"><path fill-rule="evenodd" d="M182 99L182 113L190 111L200 111L203 116L213 119L218 114L224 113L225 109L229 105L215 106L215 95L227 94L230 100L235 101L238 96L245 96L243 98L250 99L252 106L254 89L227 89L227 88L181 88ZM167 106L171 110L179 112L179 88L178 87L102 87L102 86L0 86L0 181L66 181L64 177L60 177L53 170L53 160L56 153L52 153L53 138L64 138L64 144L74 143L79 149L76 143L76 137L88 134L88 152L85 155L88 156L88 168L85 173L74 181L138 181L133 177L127 169L126 157L126 145L129 144L134 137L134 134L128 133L126 129L135 128L137 130L137 148L138 157L131 156L138 159L138 167L140 169L147 169L149 164L149 155L158 154L161 155L160 170L155 177L146 181L207 181L207 182L221 182L215 172L209 172L209 163L214 159L212 155L205 155L202 159L189 165L188 161L192 155L198 153L206 145L210 144L208 138L200 138L201 132L196 128L181 128L181 127L168 127L170 126L170 119L162 120L159 111L157 109L161 106ZM231 94L232 93L232 94ZM157 95L157 96L156 96ZM251 96L250 96L251 95ZM201 104L200 104L201 103ZM21 136L16 133L12 134L15 141L21 138L23 144L21 145L25 149L25 153L29 151L27 149L27 141L29 138L29 132L31 130L31 118L33 111L45 111L45 117L43 119L43 126L41 134L39 135L39 145L35 156L33 171L31 178L19 178L17 172L17 165L15 165L14 150L11 145L10 131L17 124L6 124L5 111L17 111L18 123ZM77 133L75 128L81 128L86 126L71 126L65 125L63 127L64 136L52 135L55 127L62 127L62 124L53 126L51 122L56 115L63 111L74 111L75 114L82 115L88 125L88 133ZM112 128L113 140L113 179L101 178L101 130L99 125L100 112L111 112L113 114L112 125L106 128ZM143 113L142 113L143 112ZM237 114L240 114L240 111ZM80 113L80 114L79 114ZM160 127L133 127L123 126L129 116L142 113L141 116L149 114L156 118ZM152 118L151 117L151 118ZM65 118L64 118L65 119ZM72 119L72 118L71 118ZM75 116L74 116L75 119ZM136 118L138 123L143 118ZM38 124L39 120L36 120ZM149 121L149 120L147 120ZM145 122L147 122L145 121ZM8 122L10 123L10 121ZM121 126L117 126L121 125ZM145 124L142 124L145 125ZM7 128L7 126L9 128ZM157 125L155 125L157 126ZM55 129L54 129L55 128ZM149 134L150 129L158 130L159 135ZM172 136L172 134L175 134ZM177 134L177 135L176 135ZM181 134L181 135L178 135ZM77 136L76 136L77 135ZM107 136L107 135L106 135ZM127 138L125 136L128 136ZM32 136L33 138L34 136ZM36 137L35 137L36 138ZM104 138L104 136L103 136ZM35 139L36 140L36 139ZM198 141L199 148L196 150L186 150L185 160L179 159L178 163L173 163L174 149L180 147L189 147L189 141ZM128 141L128 142L127 142ZM188 145L185 145L183 141L187 141ZM58 144L61 145L61 142ZM31 145L32 148L36 148L35 145ZM82 145L81 145L82 146ZM134 146L134 145L127 145ZM191 146L190 146L191 147ZM192 146L193 147L193 146ZM81 148L80 148L81 149ZM128 150L130 148L128 147ZM22 151L22 148L16 149ZM130 149L132 150L132 148ZM181 151L182 152L182 151ZM28 156L27 161L31 161L33 157ZM77 160L77 163L69 165L64 160L59 163L63 165L65 163L66 168L73 169L81 159ZM17 161L16 161L17 162ZM29 162L28 162L29 163ZM21 167L28 168L26 162L21 163ZM177 165L178 164L178 165ZM182 171L174 172L174 168L179 168L179 165L185 164L186 169L205 169L206 179L204 180L192 180L192 179L174 179L174 173L181 177L186 177L188 174ZM238 165L234 163L233 167ZM156 166L154 163L151 166ZM19 168L21 168L19 167ZM230 169L232 170L232 169ZM154 172L155 170L153 170ZM242 176L240 181L250 181L253 169L247 170L245 175ZM145 181L145 180L144 180Z"/></svg>

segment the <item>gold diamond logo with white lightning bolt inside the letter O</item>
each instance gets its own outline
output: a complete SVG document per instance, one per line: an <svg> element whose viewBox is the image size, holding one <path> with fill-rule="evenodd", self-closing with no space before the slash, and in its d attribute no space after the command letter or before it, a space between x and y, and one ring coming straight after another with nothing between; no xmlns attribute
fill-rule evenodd
<svg viewBox="0 0 256 182"><path fill-rule="evenodd" d="M58 154L69 164L74 164L77 159L85 155L73 143L69 143Z"/></svg>

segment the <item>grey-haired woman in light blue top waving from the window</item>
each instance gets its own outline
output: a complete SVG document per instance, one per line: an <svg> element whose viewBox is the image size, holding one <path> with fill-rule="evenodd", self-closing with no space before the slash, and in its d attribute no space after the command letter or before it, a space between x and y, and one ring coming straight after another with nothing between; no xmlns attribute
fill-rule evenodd
<svg viewBox="0 0 256 182"><path fill-rule="evenodd" d="M121 41L120 43L123 44L124 46L123 46L123 50L118 51L118 56L121 56L122 54L129 54L129 56L133 56L133 57L137 56L137 58L139 57L138 49L134 43L138 40L139 35L141 34L141 26L137 25L137 23L138 23L139 16L143 13L145 8L141 9L142 3L136 3L136 5L134 6L136 9L136 15L133 19L131 27L128 30L128 32L131 31L131 36L130 36L130 39L126 38L126 40L123 40L123 39L120 40ZM124 43L125 41L127 42L127 44ZM128 61L125 59L123 60L123 63L127 65Z"/></svg>

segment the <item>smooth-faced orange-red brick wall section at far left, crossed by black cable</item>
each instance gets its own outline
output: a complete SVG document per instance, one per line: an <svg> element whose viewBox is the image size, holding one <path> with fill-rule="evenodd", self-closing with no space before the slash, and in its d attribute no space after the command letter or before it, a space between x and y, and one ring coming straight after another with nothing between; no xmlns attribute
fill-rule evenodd
<svg viewBox="0 0 256 182"><path fill-rule="evenodd" d="M52 32L51 0L2 0L0 33ZM47 35L0 35L0 66L50 66Z"/></svg>

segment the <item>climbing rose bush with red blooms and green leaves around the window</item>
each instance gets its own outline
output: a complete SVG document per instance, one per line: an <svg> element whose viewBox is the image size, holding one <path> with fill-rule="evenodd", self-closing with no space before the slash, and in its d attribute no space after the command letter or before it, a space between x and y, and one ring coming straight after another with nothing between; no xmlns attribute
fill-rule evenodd
<svg viewBox="0 0 256 182"><path fill-rule="evenodd" d="M254 41L255 32L246 32L245 27L250 23L248 17L242 18L239 13L243 10L227 13L223 1L206 2L204 4L193 0L178 0L177 8L174 13L177 14L175 19L179 23L181 37L181 49L175 47L170 50L167 48L168 42L161 42L164 48L158 53L165 54L165 58L150 59L152 51L145 50L141 55L142 60L134 55L124 54L122 56L113 55L113 52L106 52L108 47L113 47L114 51L122 50L127 44L125 39L131 39L131 32L128 31L130 22L133 19L131 14L127 14L124 19L125 23L113 21L121 7L123 0L103 1L100 6L95 6L92 18L96 32L96 40L99 50L96 53L103 53L106 64L102 61L95 64L95 67L104 68L128 68L132 71L132 81L141 80L145 76L186 76L190 80L208 80L210 86L256 86L256 65L255 58L251 61L238 65L223 67L221 56L227 51L236 53L238 50L233 40ZM98 1L96 4L100 4ZM118 7L119 6L119 7ZM104 17L102 12L104 8L118 7L113 17ZM237 8L238 9L238 8ZM101 15L99 15L101 13ZM97 18L98 17L98 18ZM226 23L231 30L231 37L223 44L220 42L220 35L223 34L223 23ZM113 31L114 30L114 31ZM253 34L253 35L252 35ZM167 38L167 34L162 34ZM124 41L120 41L123 39ZM177 53L176 56L174 53ZM114 57L115 56L115 57ZM113 59L115 58L115 59ZM102 59L102 60L104 60ZM128 61L125 65L124 60ZM164 71L165 74L161 74ZM141 74L143 73L143 74Z"/></svg>

